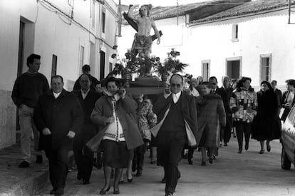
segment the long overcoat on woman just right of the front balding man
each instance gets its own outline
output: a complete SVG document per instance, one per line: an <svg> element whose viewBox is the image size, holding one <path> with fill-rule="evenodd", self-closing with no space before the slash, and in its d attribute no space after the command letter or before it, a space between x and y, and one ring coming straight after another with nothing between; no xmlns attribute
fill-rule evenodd
<svg viewBox="0 0 295 196"><path fill-rule="evenodd" d="M204 135L204 147L216 148L219 146L219 131L226 125L226 114L222 98L217 94L199 96L196 98L198 111L197 144Z"/></svg>

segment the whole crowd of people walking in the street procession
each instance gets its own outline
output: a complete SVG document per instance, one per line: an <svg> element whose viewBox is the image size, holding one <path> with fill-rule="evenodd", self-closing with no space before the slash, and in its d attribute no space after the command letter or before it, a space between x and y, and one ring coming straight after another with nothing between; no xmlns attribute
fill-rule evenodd
<svg viewBox="0 0 295 196"><path fill-rule="evenodd" d="M62 76L53 76L49 88L46 77L38 73L40 65L41 56L27 58L29 70L16 79L11 98L19 108L19 167L30 167L33 135L36 163L43 163L41 150L49 160L51 195L63 195L70 150L77 179L84 185L90 183L93 163L103 165L105 184L99 193L105 195L112 175L114 194L120 193L124 169L128 182L133 182L132 172L143 175L148 148L150 163L164 169L165 195L173 195L185 149L190 165L196 149L202 154L201 165L207 159L212 164L220 146L226 147L235 131L237 153L243 147L249 149L250 137L259 141L260 154L265 141L269 152L271 140L281 137L281 120L286 120L295 103L293 79L286 81L284 93L276 88L276 81L262 81L255 92L248 77L232 81L224 76L219 88L214 76L203 81L175 73L163 93L150 100L140 93L128 95L117 78L98 81L88 65L83 66L73 92L63 88Z"/></svg>

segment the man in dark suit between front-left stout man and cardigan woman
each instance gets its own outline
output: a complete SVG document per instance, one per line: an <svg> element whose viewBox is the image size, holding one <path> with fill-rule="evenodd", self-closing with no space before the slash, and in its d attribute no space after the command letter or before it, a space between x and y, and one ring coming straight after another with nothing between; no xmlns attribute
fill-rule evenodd
<svg viewBox="0 0 295 196"><path fill-rule="evenodd" d="M84 147L86 143L97 133L95 125L93 125L90 120L90 114L92 113L96 100L100 98L100 93L90 90L90 84L91 81L88 74L83 73L80 77L81 89L73 91L84 111L83 128L81 132L76 135L73 143L73 153L78 167L77 179L82 179L84 185L88 185L90 183L89 179L93 163L93 152Z"/></svg>

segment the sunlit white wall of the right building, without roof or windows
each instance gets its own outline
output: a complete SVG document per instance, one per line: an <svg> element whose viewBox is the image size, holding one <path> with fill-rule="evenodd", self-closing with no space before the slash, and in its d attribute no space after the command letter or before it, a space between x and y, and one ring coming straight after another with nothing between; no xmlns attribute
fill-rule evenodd
<svg viewBox="0 0 295 196"><path fill-rule="evenodd" d="M292 17L295 17L293 15ZM247 16L191 26L189 62L187 68L194 76L201 76L202 60L211 61L210 76L219 83L226 74L226 58L242 57L242 76L252 78L252 86L260 83L260 55L271 53L271 80L284 86L286 79L295 78L295 25L287 24L287 10ZM239 41L232 41L232 24L239 26Z"/></svg>

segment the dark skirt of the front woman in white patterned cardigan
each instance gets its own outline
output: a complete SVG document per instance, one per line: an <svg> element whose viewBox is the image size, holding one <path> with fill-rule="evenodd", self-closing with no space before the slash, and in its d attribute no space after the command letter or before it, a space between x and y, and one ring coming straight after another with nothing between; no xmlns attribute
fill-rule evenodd
<svg viewBox="0 0 295 196"><path fill-rule="evenodd" d="M125 142L103 140L103 165L113 168L127 168L130 160L130 150Z"/></svg>

